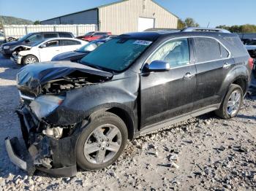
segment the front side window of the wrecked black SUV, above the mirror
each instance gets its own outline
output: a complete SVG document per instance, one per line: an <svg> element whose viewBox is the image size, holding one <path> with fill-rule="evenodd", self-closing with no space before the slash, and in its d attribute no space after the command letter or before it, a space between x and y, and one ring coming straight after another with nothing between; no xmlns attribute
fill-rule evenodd
<svg viewBox="0 0 256 191"><path fill-rule="evenodd" d="M171 68L186 66L190 62L188 39L173 40L162 45L148 59L149 64L152 61L166 61Z"/></svg>

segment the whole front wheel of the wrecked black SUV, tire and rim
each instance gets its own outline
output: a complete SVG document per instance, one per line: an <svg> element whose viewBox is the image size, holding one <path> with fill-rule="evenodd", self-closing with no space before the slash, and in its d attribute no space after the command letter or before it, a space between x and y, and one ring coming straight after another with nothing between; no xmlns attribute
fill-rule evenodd
<svg viewBox="0 0 256 191"><path fill-rule="evenodd" d="M116 114L102 112L83 129L76 145L77 163L95 171L114 163L127 144L127 126Z"/></svg>

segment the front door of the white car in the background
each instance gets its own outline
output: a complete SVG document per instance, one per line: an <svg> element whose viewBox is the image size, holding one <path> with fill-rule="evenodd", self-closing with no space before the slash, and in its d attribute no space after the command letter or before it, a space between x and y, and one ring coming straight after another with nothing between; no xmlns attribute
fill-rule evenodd
<svg viewBox="0 0 256 191"><path fill-rule="evenodd" d="M59 40L51 40L45 42L46 47L39 47L40 61L51 61L51 59L61 53L61 47Z"/></svg>

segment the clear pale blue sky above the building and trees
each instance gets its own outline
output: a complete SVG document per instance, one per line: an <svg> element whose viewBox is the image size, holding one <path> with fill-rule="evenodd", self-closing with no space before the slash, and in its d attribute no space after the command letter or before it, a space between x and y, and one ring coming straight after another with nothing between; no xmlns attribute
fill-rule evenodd
<svg viewBox="0 0 256 191"><path fill-rule="evenodd" d="M46 20L118 0L0 0L0 15ZM181 19L200 26L256 25L256 0L154 0Z"/></svg>

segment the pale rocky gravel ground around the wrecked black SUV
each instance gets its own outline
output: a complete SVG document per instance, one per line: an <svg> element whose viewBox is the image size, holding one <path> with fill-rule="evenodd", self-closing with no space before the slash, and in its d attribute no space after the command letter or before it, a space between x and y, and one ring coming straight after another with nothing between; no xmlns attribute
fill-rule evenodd
<svg viewBox="0 0 256 191"><path fill-rule="evenodd" d="M256 96L233 120L206 114L129 141L102 171L34 176L10 163L6 136L21 133L15 107L19 66L0 55L0 190L256 190Z"/></svg>

